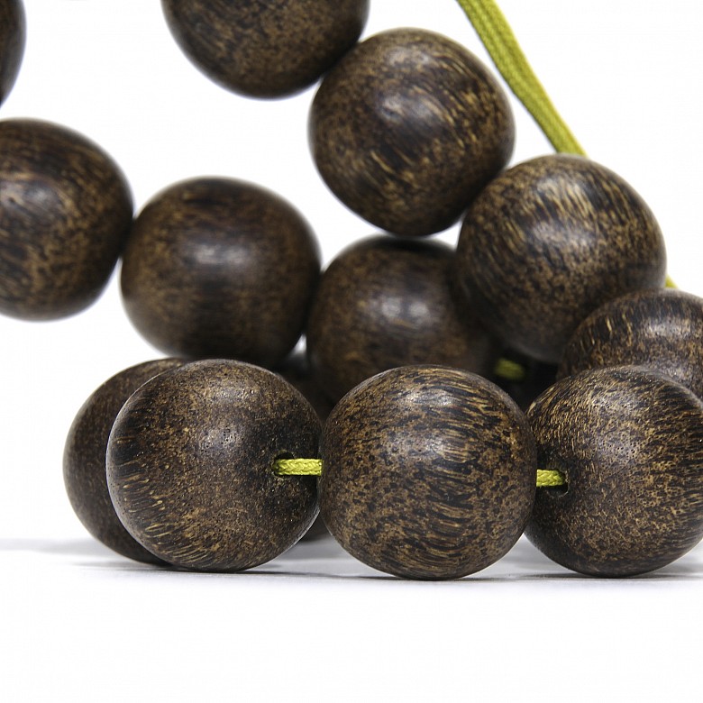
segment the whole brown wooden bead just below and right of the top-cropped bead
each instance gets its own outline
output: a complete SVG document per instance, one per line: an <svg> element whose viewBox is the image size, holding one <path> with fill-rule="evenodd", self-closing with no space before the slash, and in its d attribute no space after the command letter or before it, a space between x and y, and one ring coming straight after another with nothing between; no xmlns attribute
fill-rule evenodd
<svg viewBox="0 0 703 703"><path fill-rule="evenodd" d="M388 232L446 229L502 169L515 126L497 81L434 32L382 32L324 78L309 122L317 169Z"/></svg>

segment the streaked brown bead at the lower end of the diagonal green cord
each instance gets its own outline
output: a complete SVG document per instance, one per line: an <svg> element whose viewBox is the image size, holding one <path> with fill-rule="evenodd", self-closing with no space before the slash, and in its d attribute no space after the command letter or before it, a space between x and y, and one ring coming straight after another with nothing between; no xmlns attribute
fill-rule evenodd
<svg viewBox="0 0 703 703"><path fill-rule="evenodd" d="M598 306L661 288L666 254L644 200L612 171L563 154L526 161L466 215L456 277L481 319L518 352L559 363Z"/></svg>

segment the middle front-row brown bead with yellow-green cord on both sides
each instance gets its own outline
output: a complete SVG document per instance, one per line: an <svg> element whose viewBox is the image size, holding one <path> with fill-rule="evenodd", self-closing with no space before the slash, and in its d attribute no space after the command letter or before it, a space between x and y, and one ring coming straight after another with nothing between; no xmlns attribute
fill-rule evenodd
<svg viewBox="0 0 703 703"><path fill-rule="evenodd" d="M324 425L320 508L342 547L380 571L455 579L522 534L535 450L523 415L458 369L386 371L354 388Z"/></svg>

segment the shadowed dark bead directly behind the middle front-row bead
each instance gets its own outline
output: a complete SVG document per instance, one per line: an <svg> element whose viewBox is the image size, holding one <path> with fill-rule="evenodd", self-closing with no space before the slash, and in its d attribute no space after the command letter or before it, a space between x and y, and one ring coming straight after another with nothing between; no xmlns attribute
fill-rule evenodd
<svg viewBox="0 0 703 703"><path fill-rule="evenodd" d="M306 327L313 373L333 401L379 371L418 363L488 375L498 345L451 291L452 248L375 237L330 264Z"/></svg>

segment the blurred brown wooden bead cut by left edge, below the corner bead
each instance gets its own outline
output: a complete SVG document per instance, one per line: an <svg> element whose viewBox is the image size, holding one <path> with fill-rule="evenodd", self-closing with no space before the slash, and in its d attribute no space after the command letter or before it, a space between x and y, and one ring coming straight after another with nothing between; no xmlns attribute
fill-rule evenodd
<svg viewBox="0 0 703 703"><path fill-rule="evenodd" d="M110 157L77 132L0 123L0 312L72 315L105 288L132 224L132 196Z"/></svg>

